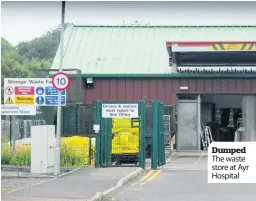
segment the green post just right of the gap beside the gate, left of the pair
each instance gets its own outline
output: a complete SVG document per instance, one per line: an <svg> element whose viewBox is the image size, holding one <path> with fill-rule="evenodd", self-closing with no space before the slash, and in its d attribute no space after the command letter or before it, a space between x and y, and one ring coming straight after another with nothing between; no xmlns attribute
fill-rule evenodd
<svg viewBox="0 0 256 201"><path fill-rule="evenodd" d="M158 162L158 108L159 103L158 101L152 101L152 154L151 154L151 169L157 169L157 162Z"/></svg>

